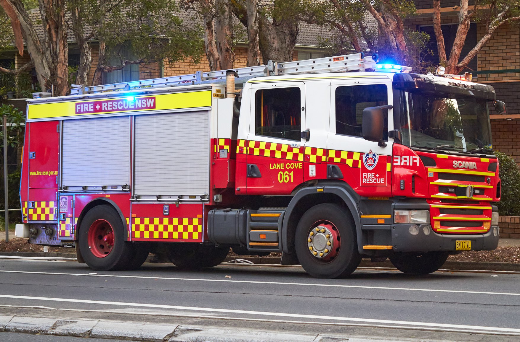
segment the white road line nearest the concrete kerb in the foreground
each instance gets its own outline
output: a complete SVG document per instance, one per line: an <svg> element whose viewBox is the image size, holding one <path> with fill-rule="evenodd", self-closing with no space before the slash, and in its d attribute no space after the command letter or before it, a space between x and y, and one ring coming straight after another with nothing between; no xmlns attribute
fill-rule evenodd
<svg viewBox="0 0 520 342"><path fill-rule="evenodd" d="M409 321L395 321L395 320L379 320L367 318L353 318L353 317L337 317L337 316L320 316L316 314L299 314L299 313L284 313L284 312L266 312L266 311L251 311L251 310L231 310L218 308L200 308L190 306L177 305L162 305L162 304L145 304L145 303L124 303L124 302L108 302L105 300L87 300L75 298L51 298L51 297L33 297L33 296L14 296L14 295L0 295L2 298L13 299L30 299L30 300L44 300L51 302L70 302L70 303L86 303L86 304L102 304L102 305L119 305L119 306L133 306L146 308L163 308L163 309L177 309L177 310L191 310L191 311L210 311L210 312L225 312L225 313L240 313L240 314L256 314L258 316L276 316L276 317L295 317L307 319L322 319L334 321L350 321L350 322L367 322L380 324L404 324L413 326L428 326L428 327L444 327L448 329L471 329L475 331L498 331L520 333L520 329L495 327L495 326L476 326L463 324L445 324L445 323L427 323L427 322L409 322Z"/></svg>

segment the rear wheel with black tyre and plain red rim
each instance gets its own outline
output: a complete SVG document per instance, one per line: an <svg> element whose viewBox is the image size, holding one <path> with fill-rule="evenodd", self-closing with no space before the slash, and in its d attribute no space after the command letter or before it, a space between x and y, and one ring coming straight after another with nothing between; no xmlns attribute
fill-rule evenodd
<svg viewBox="0 0 520 342"><path fill-rule="evenodd" d="M85 263L98 271L126 269L135 257L135 248L125 241L124 225L110 206L90 209L81 223L79 246Z"/></svg>

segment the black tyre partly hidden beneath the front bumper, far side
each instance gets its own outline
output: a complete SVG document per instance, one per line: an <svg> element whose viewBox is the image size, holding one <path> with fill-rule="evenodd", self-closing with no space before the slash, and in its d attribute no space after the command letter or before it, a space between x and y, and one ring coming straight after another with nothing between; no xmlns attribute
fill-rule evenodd
<svg viewBox="0 0 520 342"><path fill-rule="evenodd" d="M409 275L427 275L441 268L448 252L428 252L421 255L396 254L390 256L390 262L401 272Z"/></svg>

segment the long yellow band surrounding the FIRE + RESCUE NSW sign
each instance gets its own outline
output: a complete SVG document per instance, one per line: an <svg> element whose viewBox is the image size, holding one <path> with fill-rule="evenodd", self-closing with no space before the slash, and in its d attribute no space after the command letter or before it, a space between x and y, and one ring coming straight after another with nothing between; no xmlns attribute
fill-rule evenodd
<svg viewBox="0 0 520 342"><path fill-rule="evenodd" d="M204 91L192 91L183 93L173 94L162 94L162 95L140 95L136 96L135 100L140 98L155 98L154 109L139 110L136 108L126 109L121 111L109 111L99 113L88 113L88 114L76 114L75 105L82 102L93 102L93 101L116 101L124 100L126 97L114 97L114 98L92 98L85 99L84 101L67 101L67 102L52 102L52 103L32 103L28 106L27 119L46 119L46 118L57 118L57 117L74 117L74 116L96 116L100 114L117 114L125 112L149 112L149 111L165 111L165 110L176 110L180 108L195 108L195 107L209 107L211 106L211 90Z"/></svg>

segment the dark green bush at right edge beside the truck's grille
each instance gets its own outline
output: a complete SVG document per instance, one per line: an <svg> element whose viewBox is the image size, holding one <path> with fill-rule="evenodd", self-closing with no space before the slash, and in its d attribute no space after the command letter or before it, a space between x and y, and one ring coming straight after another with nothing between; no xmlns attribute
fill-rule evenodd
<svg viewBox="0 0 520 342"><path fill-rule="evenodd" d="M500 215L520 216L520 172L513 157L495 151L498 158L502 196L498 202Z"/></svg>

